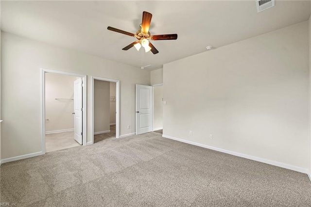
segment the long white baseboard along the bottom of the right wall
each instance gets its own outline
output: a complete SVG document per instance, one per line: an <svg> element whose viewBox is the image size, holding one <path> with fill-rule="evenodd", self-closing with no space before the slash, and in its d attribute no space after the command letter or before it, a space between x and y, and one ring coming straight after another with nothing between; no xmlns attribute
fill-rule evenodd
<svg viewBox="0 0 311 207"><path fill-rule="evenodd" d="M263 158L256 157L256 156L251 156L251 155L245 155L245 154L242 154L242 153L237 153L237 152L233 152L233 151L229 151L229 150L225 150L225 149L221 149L221 148L217 148L217 147L212 147L212 146L209 146L209 145L200 144L200 143L193 142L193 141L188 141L188 140L185 140L185 139L174 138L174 137L167 136L167 135L162 135L162 137L163 138L173 139L173 140L180 141L180 142L184 142L184 143L187 143L187 144L196 145L196 146L199 146L199 147L204 147L204 148L207 148L207 149L210 149L210 150L215 150L215 151L226 153L226 154L229 154L229 155L235 155L235 156L243 157L243 158L246 158L246 159L255 160L255 161L258 161L258 162L263 162L263 163L266 163L266 164L275 165L277 167L286 168L286 169L297 171L297 172L300 172L300 173L307 173L308 172L308 170L305 169L305 168L297 167L297 166L294 166L294 165L289 165L289 164L282 163L282 162L277 162L277 161L273 161L273 160L269 160L269 159L263 159Z"/></svg>

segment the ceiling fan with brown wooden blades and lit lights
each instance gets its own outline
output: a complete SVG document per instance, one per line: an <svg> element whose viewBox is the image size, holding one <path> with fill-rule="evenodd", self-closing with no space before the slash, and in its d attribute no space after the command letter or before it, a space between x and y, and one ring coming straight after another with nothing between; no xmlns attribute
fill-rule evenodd
<svg viewBox="0 0 311 207"><path fill-rule="evenodd" d="M123 30L119 30L113 27L107 27L108 30L121 33L124 35L134 36L138 40L132 42L122 50L127 51L128 49L132 48L133 46L139 51L141 46L145 49L145 52L151 51L152 53L156 54L158 51L155 49L155 46L151 44L150 40L173 40L177 39L177 34L170 34L170 35L151 35L149 32L150 22L151 22L152 14L149 12L142 13L142 21L140 24L140 30L136 32L136 34L125 32Z"/></svg>

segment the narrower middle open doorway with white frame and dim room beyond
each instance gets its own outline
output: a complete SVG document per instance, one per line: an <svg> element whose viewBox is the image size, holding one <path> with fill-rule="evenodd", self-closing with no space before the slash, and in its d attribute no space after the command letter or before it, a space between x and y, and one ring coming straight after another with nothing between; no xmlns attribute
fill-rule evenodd
<svg viewBox="0 0 311 207"><path fill-rule="evenodd" d="M119 83L92 77L92 143L119 138Z"/></svg>

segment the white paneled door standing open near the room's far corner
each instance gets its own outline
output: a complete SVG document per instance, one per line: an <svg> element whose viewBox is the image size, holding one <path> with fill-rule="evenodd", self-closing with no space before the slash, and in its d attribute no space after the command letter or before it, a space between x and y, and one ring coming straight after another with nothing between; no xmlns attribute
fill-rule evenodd
<svg viewBox="0 0 311 207"><path fill-rule="evenodd" d="M136 134L152 132L152 86L136 85Z"/></svg>

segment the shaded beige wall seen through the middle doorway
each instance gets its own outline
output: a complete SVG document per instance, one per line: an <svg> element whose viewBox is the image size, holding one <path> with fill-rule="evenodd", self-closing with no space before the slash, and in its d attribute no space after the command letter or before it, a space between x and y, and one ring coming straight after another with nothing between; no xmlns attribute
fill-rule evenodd
<svg viewBox="0 0 311 207"><path fill-rule="evenodd" d="M110 82L94 80L94 134L110 130Z"/></svg>

